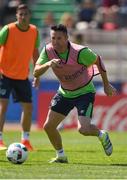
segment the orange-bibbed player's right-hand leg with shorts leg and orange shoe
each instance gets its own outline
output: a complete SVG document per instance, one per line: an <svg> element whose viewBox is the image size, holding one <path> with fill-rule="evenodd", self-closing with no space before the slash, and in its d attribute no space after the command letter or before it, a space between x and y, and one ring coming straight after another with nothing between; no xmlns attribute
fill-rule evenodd
<svg viewBox="0 0 127 180"><path fill-rule="evenodd" d="M21 125L22 136L21 143L23 143L29 151L33 150L29 141L31 120L32 120L32 90L29 80L13 81L13 99L14 102L20 102L22 105Z"/></svg>

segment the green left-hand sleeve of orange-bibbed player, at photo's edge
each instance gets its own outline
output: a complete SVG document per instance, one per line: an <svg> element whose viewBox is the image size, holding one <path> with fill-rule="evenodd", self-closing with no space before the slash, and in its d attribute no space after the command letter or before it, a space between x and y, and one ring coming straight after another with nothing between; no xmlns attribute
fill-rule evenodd
<svg viewBox="0 0 127 180"><path fill-rule="evenodd" d="M7 37L8 37L8 26L4 26L0 31L0 45L6 44Z"/></svg>

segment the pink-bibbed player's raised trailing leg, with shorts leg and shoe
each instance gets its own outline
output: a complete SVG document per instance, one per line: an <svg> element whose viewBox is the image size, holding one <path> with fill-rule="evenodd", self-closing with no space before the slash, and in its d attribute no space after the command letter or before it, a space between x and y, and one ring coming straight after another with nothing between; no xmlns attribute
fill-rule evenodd
<svg viewBox="0 0 127 180"><path fill-rule="evenodd" d="M89 93L81 97L80 103L77 105L78 109L78 130L81 134L86 136L97 136L102 143L106 155L111 155L113 146L110 141L109 135L106 131L99 130L97 126L91 124L92 110L94 97Z"/></svg>

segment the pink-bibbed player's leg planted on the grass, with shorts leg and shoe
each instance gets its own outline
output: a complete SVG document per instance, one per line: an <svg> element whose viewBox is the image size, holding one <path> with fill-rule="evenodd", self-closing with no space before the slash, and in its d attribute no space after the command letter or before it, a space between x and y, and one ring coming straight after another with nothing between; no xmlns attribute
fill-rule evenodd
<svg viewBox="0 0 127 180"><path fill-rule="evenodd" d="M51 101L51 108L48 112L46 122L44 124L44 130L46 131L50 142L56 150L56 158L53 158L50 162L67 163L67 157L65 156L62 139L57 126L64 120L69 113L72 106L68 100L59 94L56 94Z"/></svg>

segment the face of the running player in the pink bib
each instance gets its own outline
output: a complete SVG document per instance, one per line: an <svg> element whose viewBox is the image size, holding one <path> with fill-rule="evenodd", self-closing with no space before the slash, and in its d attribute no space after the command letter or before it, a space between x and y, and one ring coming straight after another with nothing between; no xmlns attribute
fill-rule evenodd
<svg viewBox="0 0 127 180"><path fill-rule="evenodd" d="M51 30L50 36L53 48L57 52L61 53L67 49L68 36L65 33Z"/></svg>

